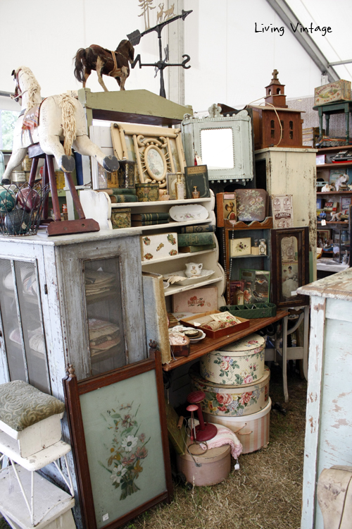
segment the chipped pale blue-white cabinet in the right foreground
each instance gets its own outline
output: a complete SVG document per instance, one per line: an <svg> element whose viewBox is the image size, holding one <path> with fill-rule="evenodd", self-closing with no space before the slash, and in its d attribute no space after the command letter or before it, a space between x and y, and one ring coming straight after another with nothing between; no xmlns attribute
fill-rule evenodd
<svg viewBox="0 0 352 529"><path fill-rule="evenodd" d="M318 478L323 468L352 466L352 269L298 292L310 296L311 315L301 529L327 529Z"/></svg>

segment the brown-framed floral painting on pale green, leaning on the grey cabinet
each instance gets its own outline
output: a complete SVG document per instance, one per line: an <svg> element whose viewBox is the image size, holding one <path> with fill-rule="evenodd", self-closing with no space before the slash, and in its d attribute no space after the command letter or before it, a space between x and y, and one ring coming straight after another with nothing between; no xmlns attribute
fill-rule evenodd
<svg viewBox="0 0 352 529"><path fill-rule="evenodd" d="M63 380L87 529L115 529L172 494L160 353L118 370Z"/></svg>

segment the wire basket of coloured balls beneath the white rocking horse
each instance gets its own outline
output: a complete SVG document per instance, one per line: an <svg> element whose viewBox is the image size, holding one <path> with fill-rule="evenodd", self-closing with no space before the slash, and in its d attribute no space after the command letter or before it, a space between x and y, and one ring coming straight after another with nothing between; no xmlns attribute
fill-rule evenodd
<svg viewBox="0 0 352 529"><path fill-rule="evenodd" d="M42 219L43 205L50 187L40 183L30 187L0 185L0 233L4 236L35 235Z"/></svg>

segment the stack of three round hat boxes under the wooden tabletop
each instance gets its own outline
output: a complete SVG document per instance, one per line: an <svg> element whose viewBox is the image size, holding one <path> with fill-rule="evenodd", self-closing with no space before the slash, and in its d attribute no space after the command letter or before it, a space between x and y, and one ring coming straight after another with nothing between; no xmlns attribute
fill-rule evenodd
<svg viewBox="0 0 352 529"><path fill-rule="evenodd" d="M242 454L269 442L270 370L264 364L265 338L251 334L201 358L200 373L191 367L194 390L204 391L204 420L224 425L243 445Z"/></svg>

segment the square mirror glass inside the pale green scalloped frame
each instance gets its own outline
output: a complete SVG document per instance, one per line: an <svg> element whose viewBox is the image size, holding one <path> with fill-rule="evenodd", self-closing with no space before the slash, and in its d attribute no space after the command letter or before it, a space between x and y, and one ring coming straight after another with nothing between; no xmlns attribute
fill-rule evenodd
<svg viewBox="0 0 352 529"><path fill-rule="evenodd" d="M232 128L201 130L201 160L208 169L233 169L234 147Z"/></svg>

